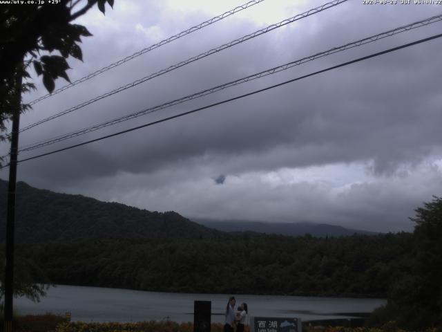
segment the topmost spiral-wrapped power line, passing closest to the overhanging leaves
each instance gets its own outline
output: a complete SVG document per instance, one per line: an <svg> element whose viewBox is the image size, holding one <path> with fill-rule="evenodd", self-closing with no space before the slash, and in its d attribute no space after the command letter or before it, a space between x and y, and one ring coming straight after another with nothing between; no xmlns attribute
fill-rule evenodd
<svg viewBox="0 0 442 332"><path fill-rule="evenodd" d="M105 71L108 71L108 70L110 70L112 68L115 68L115 67L117 67L117 66L119 66L121 64L124 64L125 62L128 62L128 61L132 60L132 59L135 59L135 57L139 57L140 55L143 55L144 53L148 53L151 50L155 50L155 48L159 48L160 46L163 46L165 44L173 42L176 39L180 39L181 37L184 37L186 35L194 33L195 31L201 30L202 28L205 28L206 26L210 26L211 24L214 24L215 22L218 22L218 21L220 21L222 19L225 19L226 17L229 17L229 16L235 14L236 12L240 12L241 10L247 9L247 8L249 8L251 6L254 6L257 3L260 3L262 1L264 1L264 0L253 0L253 1L249 1L247 3L244 3L244 5L241 5L241 6L238 6L236 8L233 8L232 10L224 12L223 14L218 15L216 17L213 17L213 18L211 18L211 19L209 19L207 21L204 21L204 22L196 25L196 26L192 26L191 28L182 31L181 33L177 33L176 35L173 35L173 36L171 36L169 38L163 39L161 42L159 42L157 44L153 44L151 46L143 48L142 50L139 50L138 52L133 53L133 55L128 55L124 59L120 59L117 62L114 62L113 64L109 64L108 66L103 67L103 68L101 68L101 69L99 69L99 70L97 70L97 71L95 71L93 73L90 73L89 75L81 77L81 78L79 78L78 80L76 80L76 81L74 81L72 83L66 84L65 86L61 86L61 88L59 88L59 89L57 89L55 91L52 91L52 93L47 93L46 95L42 95L41 97L39 97L39 98L37 98L35 100L32 100L32 102L30 102L29 104L31 106L34 105L34 104L37 104L37 102L41 102L41 100L45 100L46 98L52 97L52 95L56 95L57 93L60 93L61 91L64 91L66 89L71 88L72 86L80 84L81 82L85 82L87 80L90 80L91 78L93 78L93 77L95 77L97 75L100 75L100 74L104 73Z"/></svg>

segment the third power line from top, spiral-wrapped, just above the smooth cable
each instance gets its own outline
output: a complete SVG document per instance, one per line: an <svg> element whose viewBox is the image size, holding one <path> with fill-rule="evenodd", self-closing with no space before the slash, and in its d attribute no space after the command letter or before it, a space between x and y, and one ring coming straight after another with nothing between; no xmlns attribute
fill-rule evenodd
<svg viewBox="0 0 442 332"><path fill-rule="evenodd" d="M204 95L209 95L211 93L215 93L217 91L220 91L220 90L223 90L223 89L227 89L227 88L229 88L231 86L236 86L238 84L249 82L251 80L256 80L258 78L265 77L267 75L272 75L272 74L278 73L280 71L285 71L285 70L287 70L289 68L292 68L294 66L299 66L300 64L304 64L305 62L313 61L314 59L318 59L320 57L325 57L327 55L338 53L338 52L341 52L343 50L347 50L349 48L354 48L354 47L357 47L357 46L362 46L362 45L365 45L365 44L368 44L368 43L371 43L371 42L375 42L375 41L377 41L379 39L383 39L385 37L390 37L390 36L396 35L398 33L403 33L405 31L409 31L409 30L412 30L414 28L420 28L422 26L427 26L428 24L433 24L433 23L436 23L436 22L441 21L441 20L442 20L442 14L434 16L434 17L429 17L429 18L423 19L421 21L416 21L416 22L414 22L412 24L407 24L406 26L401 26L401 27L398 27L398 28L395 28L395 29L392 29L392 30L388 30L388 31L385 31L383 33L379 33L377 35L366 37L364 39L359 39L356 42L351 42L351 43L345 44L343 46L334 47L334 48L331 48L329 50L325 50L324 52L321 52L321 53L316 53L314 55L310 55L308 57L303 57L302 59L298 59L296 61L289 62L289 63L283 64L281 66L277 66L277 67L273 67L273 68L267 69L266 71L261 71L260 73L249 75L247 77L242 77L239 80L235 80L235 81L228 82L228 83L225 83L225 84L222 84L222 85L218 85L218 86L215 86L215 87L213 87L211 89L206 89L204 91L200 91L198 93L193 93L191 95L186 95L183 98L176 99L176 100L173 100L171 102L166 102L164 104L160 104L160 105L157 105L155 107L150 107L148 109L144 109L144 110L138 111L136 113L131 113L131 114L127 115L127 116L122 116L122 117L119 117L119 118L115 118L113 120L108 120L106 122L95 124L94 126L91 126L91 127L88 127L88 128L84 128L84 129L80 129L80 130L74 131L72 133L67 133L67 134L64 134L64 135L61 135L61 136L57 136L55 138L50 138L48 140L44 140L44 141L41 141L41 142L36 142L36 143L33 143L32 145L27 145L27 146L21 147L19 149L19 151L31 151L31 150L34 150L34 149L38 149L38 148L41 148L41 147L45 147L45 146L48 146L48 145L55 144L57 142L61 142L63 140L68 140L69 138L74 138L74 137L77 137L77 136L81 136L81 135L84 135L86 133L90 133L92 131L103 129L105 127L109 127L109 126L111 126L113 124L117 124L117 123L120 123L120 122L124 122L124 121L127 121L127 120L131 120L131 119L137 118L139 116L144 116L144 115L146 115L148 113L153 113L155 111L159 111L160 109L165 109L167 107L171 107L171 106L174 106L176 104L181 104L181 103L187 102L189 100L193 100L193 99L196 99L196 98L201 98Z"/></svg>

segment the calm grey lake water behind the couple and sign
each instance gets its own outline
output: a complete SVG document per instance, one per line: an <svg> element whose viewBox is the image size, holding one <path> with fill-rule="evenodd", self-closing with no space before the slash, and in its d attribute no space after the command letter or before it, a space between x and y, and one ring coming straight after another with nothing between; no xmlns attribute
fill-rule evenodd
<svg viewBox="0 0 442 332"><path fill-rule="evenodd" d="M235 294L233 294L235 295ZM385 299L235 295L246 302L251 316L300 317L302 321L352 318L385 304ZM140 322L172 320L193 322L193 302L212 302L212 322L224 322L229 295L177 294L130 291L115 288L56 286L40 303L15 299L15 308L27 313L72 313L72 320L84 322Z"/></svg>

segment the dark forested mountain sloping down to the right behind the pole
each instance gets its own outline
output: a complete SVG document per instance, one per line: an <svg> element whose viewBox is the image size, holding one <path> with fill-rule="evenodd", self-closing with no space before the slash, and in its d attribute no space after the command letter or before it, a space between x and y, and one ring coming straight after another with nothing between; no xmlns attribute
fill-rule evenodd
<svg viewBox="0 0 442 332"><path fill-rule="evenodd" d="M0 243L5 241L8 182L0 180ZM81 195L58 194L17 183L18 243L102 238L199 239L220 232L176 212L149 212L120 203L105 203Z"/></svg>

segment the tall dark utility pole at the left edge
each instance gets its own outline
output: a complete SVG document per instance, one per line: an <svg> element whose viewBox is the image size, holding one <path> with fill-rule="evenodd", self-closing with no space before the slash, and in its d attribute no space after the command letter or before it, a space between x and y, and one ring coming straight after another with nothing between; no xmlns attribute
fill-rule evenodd
<svg viewBox="0 0 442 332"><path fill-rule="evenodd" d="M21 83L23 62L17 66L15 78L15 96L12 114L11 149L8 183L8 212L6 216L6 267L5 267L5 332L15 331L13 322L14 298L14 232L15 232L15 190L17 183L17 150L19 147Z"/></svg>

